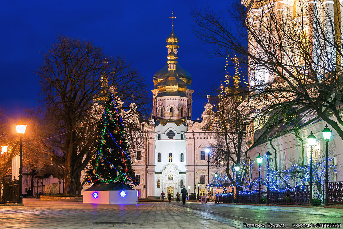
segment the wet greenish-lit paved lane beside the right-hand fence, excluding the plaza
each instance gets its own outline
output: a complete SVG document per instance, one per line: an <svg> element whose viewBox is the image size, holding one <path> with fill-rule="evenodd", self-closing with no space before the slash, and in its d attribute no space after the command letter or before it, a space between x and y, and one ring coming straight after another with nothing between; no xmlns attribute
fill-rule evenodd
<svg viewBox="0 0 343 229"><path fill-rule="evenodd" d="M187 203L180 207L198 211L198 214L206 217L212 216L213 219L217 216L221 220L232 220L231 225L236 224L238 228L243 226L243 223L286 224L287 228L293 228L292 224L341 223L343 227L343 209L214 204L213 202L208 204Z"/></svg>

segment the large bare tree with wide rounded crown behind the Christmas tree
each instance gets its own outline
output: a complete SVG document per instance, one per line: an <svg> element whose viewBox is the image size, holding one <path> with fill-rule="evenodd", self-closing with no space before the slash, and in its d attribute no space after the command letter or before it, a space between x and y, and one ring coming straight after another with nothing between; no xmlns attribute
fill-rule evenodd
<svg viewBox="0 0 343 229"><path fill-rule="evenodd" d="M130 117L142 120L146 114L149 100L144 80L125 58L105 58L92 42L62 35L43 54L43 64L35 73L42 85L40 111L54 125L54 160L70 192L81 191L81 171L92 157L109 86L126 111L123 121L130 146L137 146L134 139L144 137L142 125L130 122Z"/></svg>

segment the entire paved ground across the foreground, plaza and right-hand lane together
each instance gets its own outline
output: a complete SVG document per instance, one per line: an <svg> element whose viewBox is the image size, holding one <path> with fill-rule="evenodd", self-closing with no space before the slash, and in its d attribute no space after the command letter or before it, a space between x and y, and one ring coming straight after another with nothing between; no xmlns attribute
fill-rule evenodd
<svg viewBox="0 0 343 229"><path fill-rule="evenodd" d="M30 229L233 229L246 224L342 223L343 209L232 204L142 202L138 205L83 204L24 199L0 206L0 228ZM275 228L275 227L274 227ZM318 227L317 227L318 228Z"/></svg>

